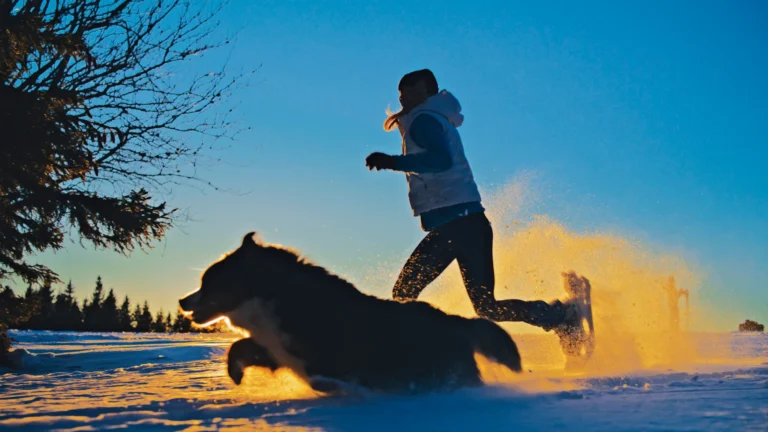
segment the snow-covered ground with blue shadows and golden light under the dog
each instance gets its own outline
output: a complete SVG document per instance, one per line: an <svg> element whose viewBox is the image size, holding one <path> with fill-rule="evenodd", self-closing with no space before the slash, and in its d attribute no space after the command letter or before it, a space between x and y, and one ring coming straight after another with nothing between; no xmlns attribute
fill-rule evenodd
<svg viewBox="0 0 768 432"><path fill-rule="evenodd" d="M515 336L523 376L419 396L318 398L287 372L226 376L231 335L12 332L36 354L0 370L0 428L23 430L768 431L768 335L693 334L695 361L564 375ZM541 357L541 356L540 356ZM527 358L527 359L526 359ZM539 363L537 363L539 362Z"/></svg>

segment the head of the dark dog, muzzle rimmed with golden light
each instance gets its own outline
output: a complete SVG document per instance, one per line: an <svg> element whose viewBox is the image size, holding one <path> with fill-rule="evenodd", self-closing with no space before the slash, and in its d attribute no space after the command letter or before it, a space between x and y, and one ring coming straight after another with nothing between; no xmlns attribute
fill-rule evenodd
<svg viewBox="0 0 768 432"><path fill-rule="evenodd" d="M200 288L179 300L179 306L192 313L192 321L204 324L251 298L270 301L278 295L281 272L295 270L299 261L295 253L262 244L248 233L239 248L205 270Z"/></svg>

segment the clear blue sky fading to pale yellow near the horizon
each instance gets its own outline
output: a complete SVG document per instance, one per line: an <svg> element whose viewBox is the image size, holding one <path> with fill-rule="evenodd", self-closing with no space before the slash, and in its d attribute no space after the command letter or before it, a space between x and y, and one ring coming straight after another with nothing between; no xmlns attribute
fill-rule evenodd
<svg viewBox="0 0 768 432"><path fill-rule="evenodd" d="M252 129L204 173L232 191L175 191L192 220L148 255L41 260L83 296L101 274L166 310L249 230L363 286L377 263L396 272L422 233L403 178L363 159L398 151L384 110L429 67L462 102L481 186L535 171L555 191L541 211L680 252L707 301L768 321L768 6L611 3L233 0L222 54L260 66L233 96Z"/></svg>

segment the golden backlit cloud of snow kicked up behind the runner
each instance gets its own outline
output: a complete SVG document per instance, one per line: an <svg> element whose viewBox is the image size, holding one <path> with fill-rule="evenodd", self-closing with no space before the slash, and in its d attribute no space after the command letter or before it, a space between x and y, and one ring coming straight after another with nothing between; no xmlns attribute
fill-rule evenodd
<svg viewBox="0 0 768 432"><path fill-rule="evenodd" d="M695 361L692 342L682 331L690 317L686 313L682 322L672 321L665 291L674 276L677 287L696 298L700 277L683 258L652 251L615 233L576 233L546 215L533 214L529 208L537 197L529 174L484 196L494 226L497 299L562 298L560 273L575 270L592 284L598 339L593 370L621 373ZM447 312L474 315L455 268L427 288L421 299ZM691 306L691 316L703 314L695 301ZM502 325L513 335L543 333L525 324ZM562 369L565 358L556 339L551 344L521 352L524 361L535 358L539 364Z"/></svg>

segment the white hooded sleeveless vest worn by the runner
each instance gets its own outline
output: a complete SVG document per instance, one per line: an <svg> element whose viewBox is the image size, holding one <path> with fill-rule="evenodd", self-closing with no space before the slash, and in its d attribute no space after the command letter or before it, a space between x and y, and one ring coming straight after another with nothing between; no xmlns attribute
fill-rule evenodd
<svg viewBox="0 0 768 432"><path fill-rule="evenodd" d="M424 151L413 142L408 133L413 120L421 114L429 114L440 121L448 141L452 165L447 171L439 173L405 173L408 180L408 199L413 215L419 216L430 210L457 204L479 202L480 192L464 154L461 136L456 129L464 121L459 101L448 91L443 90L410 113L400 117L397 126L403 138L405 155Z"/></svg>

